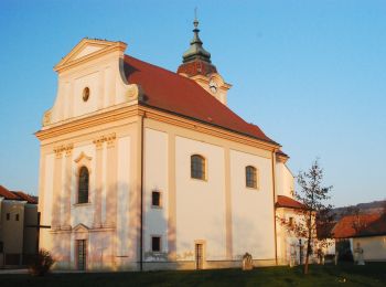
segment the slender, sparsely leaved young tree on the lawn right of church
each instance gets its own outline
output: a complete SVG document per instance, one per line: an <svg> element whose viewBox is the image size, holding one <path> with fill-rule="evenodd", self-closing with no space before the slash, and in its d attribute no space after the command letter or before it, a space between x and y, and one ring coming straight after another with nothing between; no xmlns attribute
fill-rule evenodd
<svg viewBox="0 0 386 287"><path fill-rule="evenodd" d="M307 238L304 274L308 274L309 257L312 253L312 243L319 242L320 245L328 245L329 233L323 232L322 236L317 233L317 225L320 230L328 230L333 221L331 213L332 205L326 201L330 199L329 192L332 187L322 187L323 169L319 160L312 162L311 168L298 174L299 191L294 196L303 204L303 209L298 210L298 220L289 222L286 219L279 219L280 223L297 237Z"/></svg>

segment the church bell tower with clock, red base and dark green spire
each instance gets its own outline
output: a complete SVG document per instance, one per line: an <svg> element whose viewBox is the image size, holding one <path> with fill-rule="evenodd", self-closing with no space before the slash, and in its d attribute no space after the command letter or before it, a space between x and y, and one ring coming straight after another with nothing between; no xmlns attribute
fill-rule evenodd
<svg viewBox="0 0 386 287"><path fill-rule="evenodd" d="M199 36L199 20L196 18L193 24L194 34L191 46L182 55L182 64L176 72L194 79L216 99L226 105L226 94L232 85L224 82L217 73L216 66L212 64L211 53L203 47L203 42Z"/></svg>

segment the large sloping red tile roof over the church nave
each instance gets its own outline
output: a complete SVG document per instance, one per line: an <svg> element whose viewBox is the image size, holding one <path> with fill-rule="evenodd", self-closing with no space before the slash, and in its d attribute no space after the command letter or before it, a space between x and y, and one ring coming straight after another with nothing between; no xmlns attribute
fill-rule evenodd
<svg viewBox="0 0 386 287"><path fill-rule="evenodd" d="M125 74L128 83L138 84L143 89L141 105L278 145L259 127L246 123L193 79L128 55L125 55Z"/></svg>

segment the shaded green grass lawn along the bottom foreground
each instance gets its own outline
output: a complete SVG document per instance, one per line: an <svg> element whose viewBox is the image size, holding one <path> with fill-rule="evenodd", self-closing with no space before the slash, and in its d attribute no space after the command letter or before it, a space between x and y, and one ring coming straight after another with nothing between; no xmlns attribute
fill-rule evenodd
<svg viewBox="0 0 386 287"><path fill-rule="evenodd" d="M309 275L303 275L300 267L265 267L251 272L68 273L45 277L3 274L0 286L386 286L386 263L312 265Z"/></svg>

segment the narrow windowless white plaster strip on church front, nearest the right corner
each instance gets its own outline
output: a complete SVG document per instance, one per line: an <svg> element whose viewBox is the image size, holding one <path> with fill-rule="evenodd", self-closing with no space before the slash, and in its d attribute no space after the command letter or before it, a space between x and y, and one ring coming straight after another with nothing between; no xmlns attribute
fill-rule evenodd
<svg viewBox="0 0 386 287"><path fill-rule="evenodd" d="M129 238L129 184L130 184L130 137L118 138L118 170L117 170L117 255L128 256Z"/></svg>

